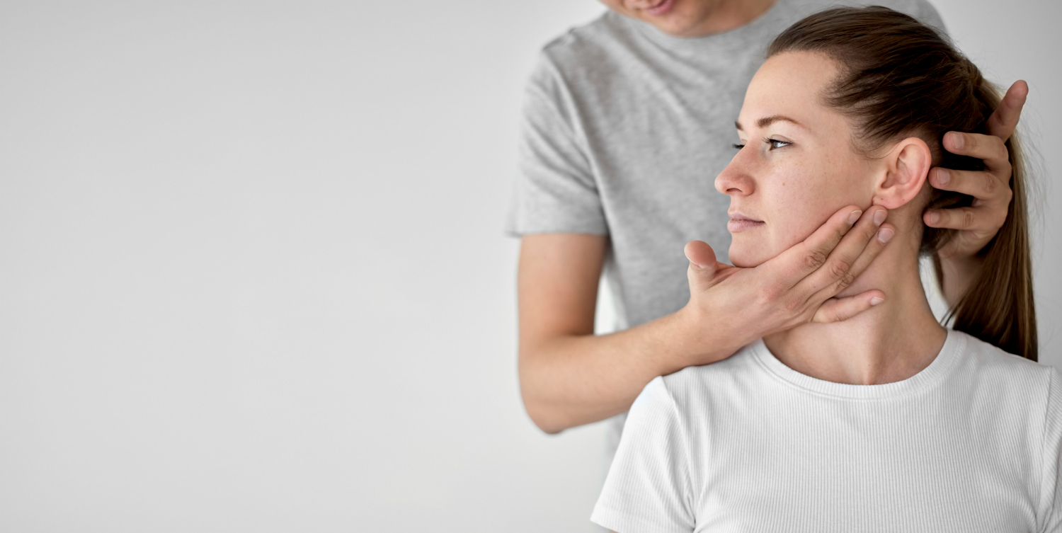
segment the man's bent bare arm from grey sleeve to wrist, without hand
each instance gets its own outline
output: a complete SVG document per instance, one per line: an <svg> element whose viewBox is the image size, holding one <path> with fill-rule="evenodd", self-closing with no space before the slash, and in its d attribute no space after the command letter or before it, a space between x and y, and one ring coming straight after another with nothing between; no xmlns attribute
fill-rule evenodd
<svg viewBox="0 0 1062 533"><path fill-rule="evenodd" d="M653 377L678 371L674 317L594 336L609 237L533 234L520 241L520 395L543 431L607 418L630 408Z"/></svg>

